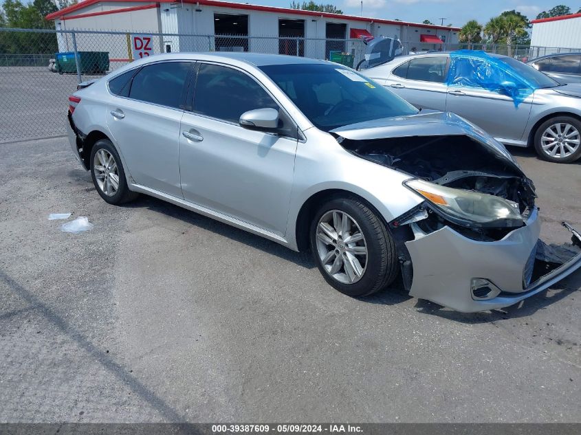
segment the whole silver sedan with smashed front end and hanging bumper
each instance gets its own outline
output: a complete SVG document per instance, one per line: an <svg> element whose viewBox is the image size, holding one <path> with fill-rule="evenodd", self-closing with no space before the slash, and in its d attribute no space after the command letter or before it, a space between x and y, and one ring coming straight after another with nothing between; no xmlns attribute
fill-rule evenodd
<svg viewBox="0 0 581 435"><path fill-rule="evenodd" d="M67 118L108 203L148 194L310 249L347 295L401 273L411 295L481 311L581 267L538 241L534 186L503 145L342 65L152 56L84 85Z"/></svg>

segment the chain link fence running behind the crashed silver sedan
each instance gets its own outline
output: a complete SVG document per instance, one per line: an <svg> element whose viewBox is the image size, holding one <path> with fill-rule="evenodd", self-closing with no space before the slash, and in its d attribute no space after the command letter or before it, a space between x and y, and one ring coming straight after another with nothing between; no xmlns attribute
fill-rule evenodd
<svg viewBox="0 0 581 435"><path fill-rule="evenodd" d="M360 39L276 38L245 35L187 35L80 30L25 30L0 28L0 143L65 134L67 97L76 85L127 65L139 50L166 52L254 52L327 59L348 67L364 60ZM419 43L402 42L404 54ZM483 49L520 60L569 49L451 45L441 49Z"/></svg>

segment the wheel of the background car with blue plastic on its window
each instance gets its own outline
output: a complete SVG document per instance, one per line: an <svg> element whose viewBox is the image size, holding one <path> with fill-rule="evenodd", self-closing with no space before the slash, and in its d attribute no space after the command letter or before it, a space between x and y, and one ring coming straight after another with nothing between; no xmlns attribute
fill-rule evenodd
<svg viewBox="0 0 581 435"><path fill-rule="evenodd" d="M547 161L569 163L581 157L581 122L570 116L558 116L540 124L534 145Z"/></svg>

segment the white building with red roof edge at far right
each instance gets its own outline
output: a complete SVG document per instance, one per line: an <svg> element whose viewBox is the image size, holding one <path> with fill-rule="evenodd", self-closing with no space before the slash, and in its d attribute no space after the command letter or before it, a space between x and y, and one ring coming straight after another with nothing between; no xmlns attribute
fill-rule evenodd
<svg viewBox="0 0 581 435"><path fill-rule="evenodd" d="M581 49L581 14L553 16L531 23L531 47Z"/></svg>

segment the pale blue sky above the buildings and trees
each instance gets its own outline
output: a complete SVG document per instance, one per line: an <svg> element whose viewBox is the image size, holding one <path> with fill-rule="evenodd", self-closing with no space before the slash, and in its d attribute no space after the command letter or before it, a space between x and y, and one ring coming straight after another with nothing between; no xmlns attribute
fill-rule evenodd
<svg viewBox="0 0 581 435"><path fill-rule="evenodd" d="M256 5L278 6L288 8L291 1L281 0L236 0L248 1ZM301 0L302 3L303 0ZM360 0L315 0L316 3L332 3L340 8L344 14L360 15ZM428 19L432 23L444 25L452 23L461 27L466 21L476 19L479 23L486 23L492 16L501 14L504 10L516 9L529 19L543 10L563 4L571 11L581 9L581 0L576 1L527 1L527 0L363 0L363 15L376 18L395 19L420 22Z"/></svg>

